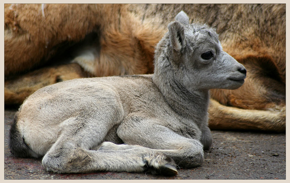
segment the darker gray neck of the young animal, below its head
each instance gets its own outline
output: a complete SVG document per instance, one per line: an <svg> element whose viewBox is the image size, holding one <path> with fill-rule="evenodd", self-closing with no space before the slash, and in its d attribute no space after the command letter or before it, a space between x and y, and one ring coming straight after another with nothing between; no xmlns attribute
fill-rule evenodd
<svg viewBox="0 0 290 183"><path fill-rule="evenodd" d="M158 72L154 73L153 82L176 113L194 119L198 125L208 119L209 90L188 91L172 75L160 77Z"/></svg>

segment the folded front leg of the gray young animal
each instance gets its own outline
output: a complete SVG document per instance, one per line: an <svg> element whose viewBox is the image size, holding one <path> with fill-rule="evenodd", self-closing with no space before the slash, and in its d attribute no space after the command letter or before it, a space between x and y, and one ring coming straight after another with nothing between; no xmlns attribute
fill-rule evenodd
<svg viewBox="0 0 290 183"><path fill-rule="evenodd" d="M200 166L204 158L203 145L199 140L183 137L157 124L154 119L127 117L117 133L126 144L141 145L164 153L180 167Z"/></svg>

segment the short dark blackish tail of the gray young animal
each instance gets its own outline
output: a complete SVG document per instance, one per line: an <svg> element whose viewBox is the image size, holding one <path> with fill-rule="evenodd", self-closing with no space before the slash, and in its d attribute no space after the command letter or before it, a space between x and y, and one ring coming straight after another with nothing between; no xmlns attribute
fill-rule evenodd
<svg viewBox="0 0 290 183"><path fill-rule="evenodd" d="M17 128L18 116L17 113L14 116L13 123L10 128L9 134L9 148L10 152L17 157L31 157L35 154L28 145L24 142L23 135Z"/></svg>

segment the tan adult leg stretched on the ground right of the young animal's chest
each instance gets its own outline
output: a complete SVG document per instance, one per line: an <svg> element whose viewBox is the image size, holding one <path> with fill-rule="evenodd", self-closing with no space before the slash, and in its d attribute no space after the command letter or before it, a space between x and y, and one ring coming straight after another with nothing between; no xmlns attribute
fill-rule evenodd
<svg viewBox="0 0 290 183"><path fill-rule="evenodd" d="M209 113L210 129L243 129L284 132L286 129L286 106L280 111L249 110L224 106L211 99Z"/></svg>

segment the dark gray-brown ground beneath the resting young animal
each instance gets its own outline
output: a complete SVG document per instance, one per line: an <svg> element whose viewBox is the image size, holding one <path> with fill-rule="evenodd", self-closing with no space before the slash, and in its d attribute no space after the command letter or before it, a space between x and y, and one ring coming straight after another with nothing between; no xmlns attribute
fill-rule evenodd
<svg viewBox="0 0 290 183"><path fill-rule="evenodd" d="M202 166L165 177L150 173L96 172L56 174L41 159L14 157L8 135L15 108L4 110L4 179L286 179L286 134L212 130L213 144Z"/></svg>

